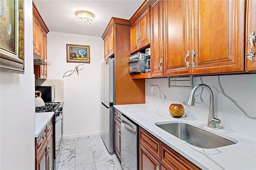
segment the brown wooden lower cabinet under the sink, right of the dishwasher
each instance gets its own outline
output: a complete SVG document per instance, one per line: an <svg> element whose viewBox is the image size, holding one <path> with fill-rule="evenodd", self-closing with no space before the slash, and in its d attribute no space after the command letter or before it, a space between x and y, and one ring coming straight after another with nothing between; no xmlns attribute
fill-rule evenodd
<svg viewBox="0 0 256 170"><path fill-rule="evenodd" d="M139 170L200 170L200 168L140 127Z"/></svg>

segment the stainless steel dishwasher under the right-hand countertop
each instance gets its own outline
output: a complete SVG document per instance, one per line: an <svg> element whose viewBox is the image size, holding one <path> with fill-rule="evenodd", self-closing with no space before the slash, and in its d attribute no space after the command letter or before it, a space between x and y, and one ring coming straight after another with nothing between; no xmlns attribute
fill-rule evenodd
<svg viewBox="0 0 256 170"><path fill-rule="evenodd" d="M138 126L121 115L121 166L123 170L138 169Z"/></svg>

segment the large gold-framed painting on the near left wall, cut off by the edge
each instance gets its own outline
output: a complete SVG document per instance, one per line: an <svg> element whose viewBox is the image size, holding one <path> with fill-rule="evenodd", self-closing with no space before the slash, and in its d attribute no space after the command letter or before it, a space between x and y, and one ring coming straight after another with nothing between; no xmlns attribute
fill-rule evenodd
<svg viewBox="0 0 256 170"><path fill-rule="evenodd" d="M23 0L0 0L0 71L24 74Z"/></svg>

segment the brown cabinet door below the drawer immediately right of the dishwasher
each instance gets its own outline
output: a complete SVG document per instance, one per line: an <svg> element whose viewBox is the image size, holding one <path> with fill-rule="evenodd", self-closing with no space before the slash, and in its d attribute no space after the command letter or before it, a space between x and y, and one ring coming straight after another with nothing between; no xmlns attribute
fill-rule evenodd
<svg viewBox="0 0 256 170"><path fill-rule="evenodd" d="M160 160L139 144L139 170L159 170Z"/></svg>

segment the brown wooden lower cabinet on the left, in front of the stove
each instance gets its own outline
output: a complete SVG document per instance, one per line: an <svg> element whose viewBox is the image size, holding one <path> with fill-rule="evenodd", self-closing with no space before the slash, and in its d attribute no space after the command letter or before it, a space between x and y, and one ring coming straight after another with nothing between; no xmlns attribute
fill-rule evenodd
<svg viewBox="0 0 256 170"><path fill-rule="evenodd" d="M35 138L35 170L54 169L53 120Z"/></svg>

